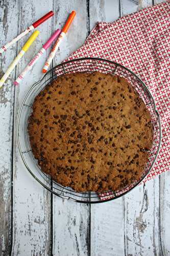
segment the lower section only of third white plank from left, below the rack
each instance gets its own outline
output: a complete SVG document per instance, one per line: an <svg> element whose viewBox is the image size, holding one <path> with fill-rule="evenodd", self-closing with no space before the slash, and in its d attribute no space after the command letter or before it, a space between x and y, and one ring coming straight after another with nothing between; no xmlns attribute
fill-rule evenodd
<svg viewBox="0 0 170 256"><path fill-rule="evenodd" d="M53 255L90 255L89 205L54 197L53 208Z"/></svg>

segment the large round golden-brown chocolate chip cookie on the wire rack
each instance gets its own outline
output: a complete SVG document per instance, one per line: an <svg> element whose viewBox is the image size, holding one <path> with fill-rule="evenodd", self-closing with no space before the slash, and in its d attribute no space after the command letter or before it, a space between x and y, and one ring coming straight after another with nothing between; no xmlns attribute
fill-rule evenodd
<svg viewBox="0 0 170 256"><path fill-rule="evenodd" d="M76 191L140 179L153 142L151 115L131 84L99 72L63 75L45 87L28 131L43 172Z"/></svg>

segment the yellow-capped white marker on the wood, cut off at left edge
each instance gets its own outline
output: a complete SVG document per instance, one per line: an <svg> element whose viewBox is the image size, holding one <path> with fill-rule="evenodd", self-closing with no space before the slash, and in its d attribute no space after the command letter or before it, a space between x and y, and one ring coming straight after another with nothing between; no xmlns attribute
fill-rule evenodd
<svg viewBox="0 0 170 256"><path fill-rule="evenodd" d="M12 70L15 68L17 63L19 62L20 58L25 54L25 52L28 51L29 47L32 45L33 41L36 39L36 37L39 35L39 31L36 30L28 39L26 44L22 47L21 51L18 53L16 58L13 60L11 65L8 67L7 71L3 75L3 77L0 79L0 88L3 86L3 83L6 81L8 76L11 74Z"/></svg>

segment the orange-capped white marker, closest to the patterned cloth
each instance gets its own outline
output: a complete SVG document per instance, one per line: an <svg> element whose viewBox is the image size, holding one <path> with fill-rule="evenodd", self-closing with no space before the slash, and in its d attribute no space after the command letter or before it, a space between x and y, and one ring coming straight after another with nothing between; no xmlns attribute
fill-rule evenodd
<svg viewBox="0 0 170 256"><path fill-rule="evenodd" d="M52 60L53 60L53 58L54 58L54 56L57 52L57 49L60 46L62 39L65 37L65 34L66 34L67 30L69 29L69 26L71 25L72 20L74 19L75 15L76 15L75 11L72 11L71 14L69 15L69 17L68 17L68 19L67 19L67 21L66 21L66 23L65 23L65 25L64 25L64 27L61 31L61 34L59 35L59 37L58 37L57 41L55 42L55 45L54 45L50 55L47 58L47 61L46 61L45 65L43 67L43 70L42 70L43 73L46 73L47 70L48 70L48 67L50 67L50 64L51 64L51 62L52 62Z"/></svg>

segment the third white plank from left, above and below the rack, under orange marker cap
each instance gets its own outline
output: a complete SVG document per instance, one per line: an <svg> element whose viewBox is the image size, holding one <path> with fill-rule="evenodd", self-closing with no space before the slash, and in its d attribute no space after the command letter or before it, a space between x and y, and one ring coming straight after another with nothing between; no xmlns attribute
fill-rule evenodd
<svg viewBox="0 0 170 256"><path fill-rule="evenodd" d="M75 10L77 15L56 54L54 65L79 48L87 35L86 1L55 1L54 11L57 12L55 27L62 27L72 10ZM89 217L89 205L53 196L54 255L83 256L89 254Z"/></svg>

